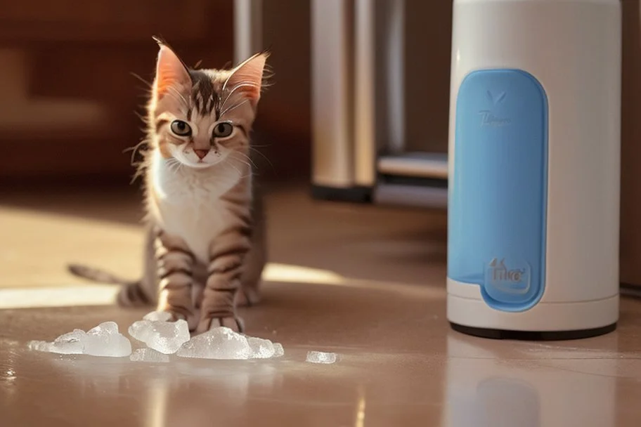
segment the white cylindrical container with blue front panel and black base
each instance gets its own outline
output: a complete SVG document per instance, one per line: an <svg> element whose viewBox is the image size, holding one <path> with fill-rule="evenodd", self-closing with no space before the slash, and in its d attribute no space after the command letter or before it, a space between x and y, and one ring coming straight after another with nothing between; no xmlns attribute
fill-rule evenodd
<svg viewBox="0 0 641 427"><path fill-rule="evenodd" d="M619 0L454 0L448 320L571 339L619 319Z"/></svg>

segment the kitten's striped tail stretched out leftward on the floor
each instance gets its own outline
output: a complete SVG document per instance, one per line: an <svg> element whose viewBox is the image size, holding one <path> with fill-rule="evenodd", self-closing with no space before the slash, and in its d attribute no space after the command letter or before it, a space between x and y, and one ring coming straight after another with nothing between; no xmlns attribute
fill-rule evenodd
<svg viewBox="0 0 641 427"><path fill-rule="evenodd" d="M155 304L155 298L145 292L142 280L126 280L122 277L112 275L110 272L79 264L70 264L68 270L72 275L91 280L92 282L119 284L120 291L118 292L116 302L121 307L141 307Z"/></svg>

